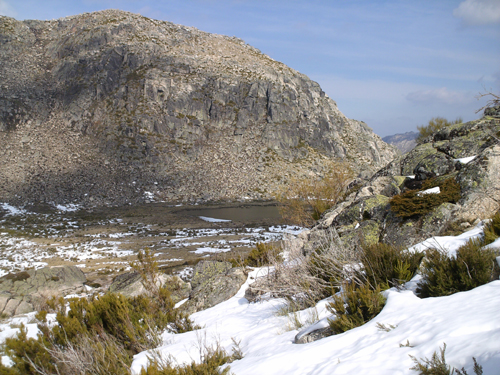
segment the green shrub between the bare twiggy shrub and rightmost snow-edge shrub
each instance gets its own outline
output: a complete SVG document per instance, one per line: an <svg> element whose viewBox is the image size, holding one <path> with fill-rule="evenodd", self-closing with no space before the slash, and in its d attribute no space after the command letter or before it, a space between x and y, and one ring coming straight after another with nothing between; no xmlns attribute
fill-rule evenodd
<svg viewBox="0 0 500 375"><path fill-rule="evenodd" d="M361 252L364 278L368 284L380 286L381 289L397 287L410 281L424 257L421 252L412 253L380 242L364 246Z"/></svg>

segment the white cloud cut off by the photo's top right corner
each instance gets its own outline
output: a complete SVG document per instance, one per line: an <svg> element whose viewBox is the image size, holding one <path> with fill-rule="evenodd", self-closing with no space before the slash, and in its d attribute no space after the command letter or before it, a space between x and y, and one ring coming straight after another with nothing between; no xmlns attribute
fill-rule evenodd
<svg viewBox="0 0 500 375"><path fill-rule="evenodd" d="M466 25L500 23L499 0L465 0L453 11Z"/></svg>

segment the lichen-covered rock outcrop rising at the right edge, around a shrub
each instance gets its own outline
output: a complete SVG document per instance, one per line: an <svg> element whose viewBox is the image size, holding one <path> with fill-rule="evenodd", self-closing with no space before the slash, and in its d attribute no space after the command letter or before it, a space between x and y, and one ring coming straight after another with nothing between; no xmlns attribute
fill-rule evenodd
<svg viewBox="0 0 500 375"><path fill-rule="evenodd" d="M360 182L344 202L318 222L309 233L306 248L314 248L331 226L344 240L410 246L431 236L463 232L489 218L500 208L499 133L500 115L434 133L368 181ZM458 183L460 198L409 217L391 210L392 197L408 190L423 190L422 185L430 179L438 184L453 179Z"/></svg>

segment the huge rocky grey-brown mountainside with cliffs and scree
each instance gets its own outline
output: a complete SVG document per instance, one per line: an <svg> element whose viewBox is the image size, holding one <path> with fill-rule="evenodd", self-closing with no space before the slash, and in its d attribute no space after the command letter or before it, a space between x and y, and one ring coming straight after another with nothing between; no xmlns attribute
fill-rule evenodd
<svg viewBox="0 0 500 375"><path fill-rule="evenodd" d="M240 39L121 11L0 17L0 199L266 198L326 158L396 155L316 82Z"/></svg>

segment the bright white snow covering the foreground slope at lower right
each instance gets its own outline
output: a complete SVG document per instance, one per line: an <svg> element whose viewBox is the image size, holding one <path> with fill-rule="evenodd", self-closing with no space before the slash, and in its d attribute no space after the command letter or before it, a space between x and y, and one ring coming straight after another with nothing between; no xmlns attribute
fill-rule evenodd
<svg viewBox="0 0 500 375"><path fill-rule="evenodd" d="M468 238L481 235L478 226L460 236L437 237L414 248L436 246L454 253ZM309 344L294 344L299 330L288 331L290 318L277 314L281 299L248 303L245 289L265 269L255 269L239 292L226 302L195 313L191 318L205 327L183 334L164 333L157 350L178 363L199 360L200 346L218 343L231 352L239 342L243 359L230 364L231 372L244 374L416 374L410 355L430 358L447 345L446 360L473 374L472 357L485 375L500 373L500 281L447 297L418 298L413 290L417 275L406 290L386 291L382 312L362 327ZM327 301L298 313L303 322L329 316ZM387 329L381 329L383 325ZM234 341L233 341L234 339ZM134 357L138 374L148 352Z"/></svg>

